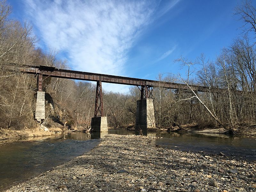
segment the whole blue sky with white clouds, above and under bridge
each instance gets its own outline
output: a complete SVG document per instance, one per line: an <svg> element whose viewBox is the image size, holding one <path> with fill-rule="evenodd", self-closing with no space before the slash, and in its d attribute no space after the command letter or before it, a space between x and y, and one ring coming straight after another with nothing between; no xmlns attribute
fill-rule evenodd
<svg viewBox="0 0 256 192"><path fill-rule="evenodd" d="M8 0L11 18L30 21L43 50L75 70L156 79L185 74L173 61L204 53L214 60L240 35L239 0ZM198 67L198 66L196 66ZM129 86L103 84L108 91Z"/></svg>

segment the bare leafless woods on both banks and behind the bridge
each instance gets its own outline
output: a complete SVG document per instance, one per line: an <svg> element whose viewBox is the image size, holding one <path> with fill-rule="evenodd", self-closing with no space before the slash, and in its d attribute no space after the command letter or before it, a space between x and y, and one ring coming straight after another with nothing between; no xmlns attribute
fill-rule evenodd
<svg viewBox="0 0 256 192"><path fill-rule="evenodd" d="M11 7L4 0L0 2L0 9L0 128L35 128L39 126L34 120L36 78L8 64L68 69L68 63L58 60L54 51L44 52L38 48L32 26L10 20ZM250 3L237 8L236 17L244 20L244 32L229 47L222 49L216 60L208 60L203 54L195 61L181 57L176 62L188 68L188 74L159 75L162 81L207 86L209 92L164 89L159 84L154 90L157 128L178 126L182 130L184 125L198 129L217 126L241 133L256 127L255 16ZM194 64L199 64L200 69L195 71ZM216 88L222 91L214 91ZM95 105L94 84L49 77L43 82L43 91L46 92L44 126L63 127L67 122L68 128L75 129L90 125ZM104 90L108 126L125 128L134 125L136 100L139 99L137 87L126 94Z"/></svg>

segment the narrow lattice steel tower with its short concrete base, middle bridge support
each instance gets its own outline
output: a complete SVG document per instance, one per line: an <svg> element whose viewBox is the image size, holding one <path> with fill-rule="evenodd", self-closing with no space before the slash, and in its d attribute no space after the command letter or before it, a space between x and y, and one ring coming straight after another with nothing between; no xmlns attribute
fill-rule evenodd
<svg viewBox="0 0 256 192"><path fill-rule="evenodd" d="M92 117L91 127L93 132L108 132L107 117L103 113L103 100L101 81L97 81L95 110L94 117Z"/></svg>

